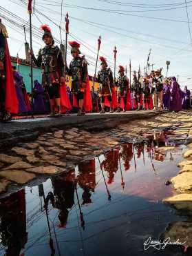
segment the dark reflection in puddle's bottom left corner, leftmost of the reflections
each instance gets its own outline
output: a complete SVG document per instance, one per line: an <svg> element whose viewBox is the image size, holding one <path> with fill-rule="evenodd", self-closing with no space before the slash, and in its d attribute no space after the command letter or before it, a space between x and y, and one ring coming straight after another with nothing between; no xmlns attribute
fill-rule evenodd
<svg viewBox="0 0 192 256"><path fill-rule="evenodd" d="M26 232L25 190L1 199L1 244L6 247L6 256L19 256L28 242Z"/></svg>

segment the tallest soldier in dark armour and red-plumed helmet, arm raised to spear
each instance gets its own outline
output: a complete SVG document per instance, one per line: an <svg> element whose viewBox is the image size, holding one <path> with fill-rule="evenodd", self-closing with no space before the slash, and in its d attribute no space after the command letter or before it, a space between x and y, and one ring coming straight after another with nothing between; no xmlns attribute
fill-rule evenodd
<svg viewBox="0 0 192 256"><path fill-rule="evenodd" d="M30 54L36 66L43 68L42 83L50 97L51 116L54 117L55 105L58 115L61 113L60 84L65 83L64 63L61 50L58 46L54 46L50 28L43 25L41 29L44 31L42 39L45 46L39 50L37 59L32 50Z"/></svg>

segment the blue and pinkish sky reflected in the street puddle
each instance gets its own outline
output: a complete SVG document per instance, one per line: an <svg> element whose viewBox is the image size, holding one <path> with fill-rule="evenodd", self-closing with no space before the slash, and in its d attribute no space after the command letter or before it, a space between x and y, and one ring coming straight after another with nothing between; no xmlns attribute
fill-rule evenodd
<svg viewBox="0 0 192 256"><path fill-rule="evenodd" d="M135 150L135 153L136 150ZM180 161L181 152L175 153L177 161ZM100 156L102 162L105 157ZM125 179L125 190L121 187L120 169L114 177L114 183L108 186L111 193L111 201L107 200L107 193L100 166L96 161L96 189L92 193L92 204L81 206L85 219L85 230L78 225L80 221L78 204L75 198L76 208L70 210L66 228L58 228L58 211L49 206L49 218L54 239L56 255L58 248L61 255L126 255L127 250L132 255L142 255L142 243L151 235L158 239L169 221L177 220L169 207L161 204L164 196L171 195L171 188L162 186L168 174L176 173L175 162L154 161L157 175L153 173L151 161L145 153L145 166L142 156L136 157L137 173L134 170L134 158L131 160L131 168L125 172L124 163L121 161L122 175ZM104 171L107 179L107 173ZM76 169L76 175L78 170ZM45 196L52 190L51 181L44 184ZM150 186L150 190L149 190ZM39 213L40 199L38 188L26 189L27 218L28 218L28 243L25 246L25 255L49 255L49 236L45 213ZM82 202L83 190L78 188L78 197ZM157 199L159 199L157 201ZM158 220L159 219L159 220ZM54 228L56 237L54 236ZM56 246L55 239L58 241ZM152 253L152 254L151 254ZM164 251L163 253L166 252ZM149 251L147 255L153 255ZM162 254L163 255L163 254Z"/></svg>

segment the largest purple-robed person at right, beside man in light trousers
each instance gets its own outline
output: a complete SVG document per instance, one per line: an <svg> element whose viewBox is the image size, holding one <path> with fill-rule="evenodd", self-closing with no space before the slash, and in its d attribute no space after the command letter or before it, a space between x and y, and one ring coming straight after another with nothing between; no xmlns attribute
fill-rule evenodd
<svg viewBox="0 0 192 256"><path fill-rule="evenodd" d="M170 110L178 112L182 110L182 90L176 77L171 77L171 80Z"/></svg>

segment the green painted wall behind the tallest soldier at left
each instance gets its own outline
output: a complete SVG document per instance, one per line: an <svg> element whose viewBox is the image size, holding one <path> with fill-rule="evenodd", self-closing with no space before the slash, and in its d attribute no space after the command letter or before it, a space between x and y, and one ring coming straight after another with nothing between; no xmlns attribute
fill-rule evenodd
<svg viewBox="0 0 192 256"><path fill-rule="evenodd" d="M13 66L17 66L17 63L12 62ZM33 80L38 80L41 83L41 69L33 68ZM26 89L28 92L31 92L31 79L30 79L30 66L20 64L19 65L19 72L23 77Z"/></svg>

